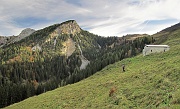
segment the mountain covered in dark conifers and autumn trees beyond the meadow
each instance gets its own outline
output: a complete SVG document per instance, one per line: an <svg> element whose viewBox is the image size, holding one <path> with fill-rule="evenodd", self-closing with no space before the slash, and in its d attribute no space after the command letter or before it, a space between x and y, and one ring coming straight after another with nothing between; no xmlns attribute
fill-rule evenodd
<svg viewBox="0 0 180 109"><path fill-rule="evenodd" d="M154 41L148 35L101 37L74 20L37 30L0 48L0 107L83 80ZM89 64L82 68L84 60Z"/></svg>

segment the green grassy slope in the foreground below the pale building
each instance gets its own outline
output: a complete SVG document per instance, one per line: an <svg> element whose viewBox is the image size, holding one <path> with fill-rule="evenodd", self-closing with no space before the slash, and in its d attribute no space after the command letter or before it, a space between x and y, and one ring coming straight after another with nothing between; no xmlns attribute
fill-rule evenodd
<svg viewBox="0 0 180 109"><path fill-rule="evenodd" d="M180 36L163 44L170 50L138 55L109 65L78 83L28 98L6 109L180 108ZM122 72L121 65L126 65ZM110 90L115 89L112 96Z"/></svg>

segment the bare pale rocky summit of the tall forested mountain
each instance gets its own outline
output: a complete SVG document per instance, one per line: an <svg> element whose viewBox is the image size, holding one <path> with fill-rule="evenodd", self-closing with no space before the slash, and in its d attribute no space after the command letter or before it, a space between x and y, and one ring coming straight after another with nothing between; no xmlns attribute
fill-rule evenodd
<svg viewBox="0 0 180 109"><path fill-rule="evenodd" d="M75 20L68 20L61 23L61 25L56 29L59 34L77 34L80 33L81 28Z"/></svg>

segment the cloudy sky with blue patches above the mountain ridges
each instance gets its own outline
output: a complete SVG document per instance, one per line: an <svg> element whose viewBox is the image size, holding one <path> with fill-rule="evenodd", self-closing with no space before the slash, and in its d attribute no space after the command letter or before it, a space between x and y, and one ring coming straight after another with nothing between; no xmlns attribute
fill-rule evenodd
<svg viewBox="0 0 180 109"><path fill-rule="evenodd" d="M180 22L180 0L0 0L0 36L76 20L100 36L154 34Z"/></svg>

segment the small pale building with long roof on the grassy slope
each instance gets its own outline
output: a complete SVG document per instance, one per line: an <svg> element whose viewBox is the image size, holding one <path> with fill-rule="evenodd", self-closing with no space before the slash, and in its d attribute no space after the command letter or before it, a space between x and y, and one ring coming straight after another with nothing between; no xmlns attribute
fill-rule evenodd
<svg viewBox="0 0 180 109"><path fill-rule="evenodd" d="M170 49L168 45L146 45L143 49L143 56L151 53L166 52Z"/></svg>

